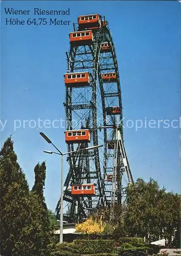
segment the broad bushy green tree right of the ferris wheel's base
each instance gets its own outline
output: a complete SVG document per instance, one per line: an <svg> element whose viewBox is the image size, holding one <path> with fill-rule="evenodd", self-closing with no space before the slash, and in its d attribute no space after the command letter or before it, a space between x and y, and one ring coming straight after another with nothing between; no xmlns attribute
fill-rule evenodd
<svg viewBox="0 0 181 256"><path fill-rule="evenodd" d="M153 179L148 183L138 179L126 188L126 205L124 220L131 236L146 237L150 242L162 238L170 241L179 224L177 194L166 193Z"/></svg>

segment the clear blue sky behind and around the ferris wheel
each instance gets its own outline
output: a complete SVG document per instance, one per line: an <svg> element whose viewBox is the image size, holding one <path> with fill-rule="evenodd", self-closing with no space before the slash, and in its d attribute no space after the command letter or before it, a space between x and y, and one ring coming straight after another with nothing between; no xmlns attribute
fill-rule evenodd
<svg viewBox="0 0 181 256"><path fill-rule="evenodd" d="M4 8L30 10L30 15L6 15ZM34 18L33 9L67 10L70 26L10 26L6 18ZM48 207L55 209L60 195L60 158L44 132L66 151L64 129L37 126L37 120L64 119L64 79L69 32L84 14L100 13L108 20L116 46L126 120L179 118L180 8L172 1L3 1L1 2L1 144L12 134L18 162L30 187L34 166L46 160L44 190ZM41 15L39 17L42 17ZM43 18L53 16L43 16ZM35 120L35 128L23 120ZM21 127L14 131L14 120ZM64 124L64 123L63 123ZM33 126L33 121L31 123ZM176 125L176 122L174 122ZM135 127L124 129L125 148L134 180L156 179L160 186L179 193L179 129ZM65 164L67 170L69 166ZM66 170L65 174L66 175Z"/></svg>

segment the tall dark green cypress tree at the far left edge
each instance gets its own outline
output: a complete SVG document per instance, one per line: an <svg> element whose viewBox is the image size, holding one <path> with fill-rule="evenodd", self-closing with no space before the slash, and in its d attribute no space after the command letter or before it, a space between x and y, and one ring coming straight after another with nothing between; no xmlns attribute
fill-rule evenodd
<svg viewBox="0 0 181 256"><path fill-rule="evenodd" d="M0 152L1 253L18 255L22 229L27 225L29 187L9 137ZM20 255L20 254L19 254Z"/></svg>

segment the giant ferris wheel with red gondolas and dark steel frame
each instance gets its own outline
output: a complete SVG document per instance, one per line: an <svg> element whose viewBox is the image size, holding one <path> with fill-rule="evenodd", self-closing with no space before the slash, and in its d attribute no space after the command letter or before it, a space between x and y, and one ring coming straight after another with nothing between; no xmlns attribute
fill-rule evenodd
<svg viewBox="0 0 181 256"><path fill-rule="evenodd" d="M63 200L70 207L64 218L80 222L96 209L121 203L123 183L133 179L123 144L120 77L108 23L99 14L79 16L69 36L63 104L65 142L74 153L67 158Z"/></svg>

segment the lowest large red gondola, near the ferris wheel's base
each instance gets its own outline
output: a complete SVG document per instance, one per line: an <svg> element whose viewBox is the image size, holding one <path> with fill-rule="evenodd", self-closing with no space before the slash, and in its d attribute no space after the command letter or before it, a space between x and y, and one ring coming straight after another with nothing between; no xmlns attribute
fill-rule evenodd
<svg viewBox="0 0 181 256"><path fill-rule="evenodd" d="M71 185L73 196L95 195L95 184L75 184Z"/></svg>

